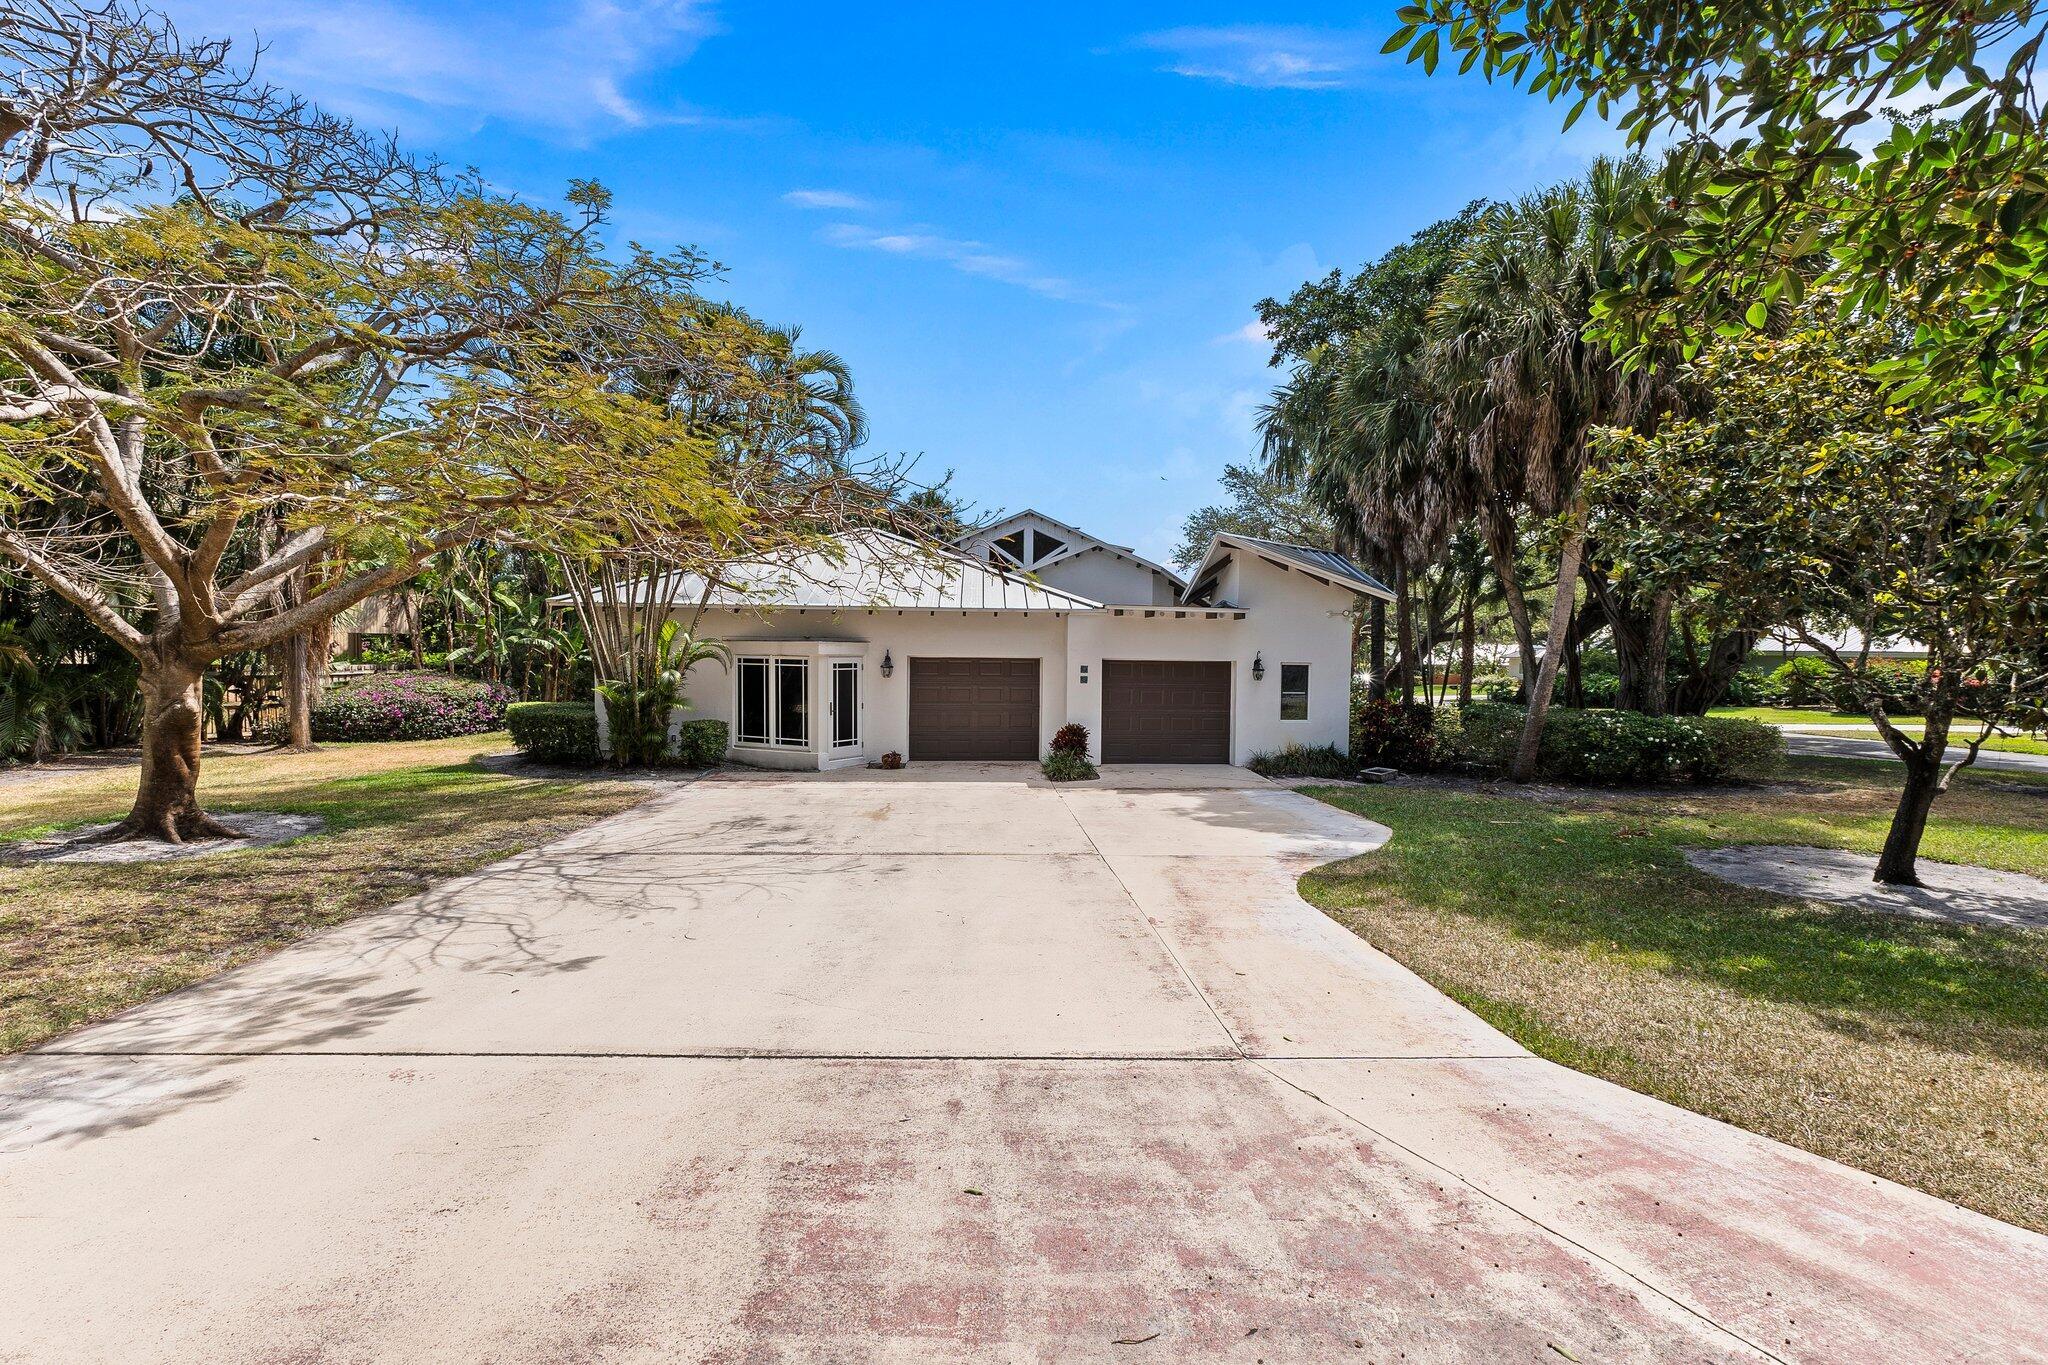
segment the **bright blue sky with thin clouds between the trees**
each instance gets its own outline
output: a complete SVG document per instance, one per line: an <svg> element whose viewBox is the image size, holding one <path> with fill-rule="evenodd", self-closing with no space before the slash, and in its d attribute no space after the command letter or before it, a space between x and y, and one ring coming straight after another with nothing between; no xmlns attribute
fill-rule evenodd
<svg viewBox="0 0 2048 1365"><path fill-rule="evenodd" d="M492 182L616 194L840 352L870 450L1165 557L1253 450L1253 305L1612 149L1378 57L1395 4L170 0Z"/></svg>

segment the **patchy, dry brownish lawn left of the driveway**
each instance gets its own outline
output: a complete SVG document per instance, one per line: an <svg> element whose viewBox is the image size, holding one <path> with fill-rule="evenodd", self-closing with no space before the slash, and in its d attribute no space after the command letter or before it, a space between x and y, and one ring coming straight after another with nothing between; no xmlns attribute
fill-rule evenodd
<svg viewBox="0 0 2048 1365"><path fill-rule="evenodd" d="M616 814L645 786L524 778L504 737L209 761L209 808L315 814L326 833L168 864L0 866L0 1052L193 984L352 915ZM117 819L133 772L0 790L0 839Z"/></svg>

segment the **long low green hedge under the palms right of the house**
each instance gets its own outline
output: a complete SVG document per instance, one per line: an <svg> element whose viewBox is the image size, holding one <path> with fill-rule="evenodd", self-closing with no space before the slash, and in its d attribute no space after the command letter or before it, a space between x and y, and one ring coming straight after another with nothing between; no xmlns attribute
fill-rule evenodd
<svg viewBox="0 0 2048 1365"><path fill-rule="evenodd" d="M1460 708L1456 735L1446 735L1450 757L1507 772L1522 741L1522 718L1520 706L1475 702ZM1767 778L1782 757L1784 737L1757 720L1554 706L1544 716L1536 772L1591 786L1739 782Z"/></svg>

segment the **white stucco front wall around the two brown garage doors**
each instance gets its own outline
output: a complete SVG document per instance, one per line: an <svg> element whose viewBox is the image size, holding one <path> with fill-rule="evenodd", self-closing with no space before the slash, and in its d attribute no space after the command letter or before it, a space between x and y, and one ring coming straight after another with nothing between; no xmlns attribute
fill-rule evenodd
<svg viewBox="0 0 2048 1365"><path fill-rule="evenodd" d="M862 663L862 716L856 753L844 761L872 761L883 753L909 755L909 661L1038 659L1038 749L1053 731L1075 720L1087 726L1096 755L1102 735L1102 663L1106 659L1206 659L1231 663L1231 761L1286 745L1350 747L1352 622L1356 596L1325 587L1300 573L1239 555L1225 571L1219 596L1245 612L1237 620L1223 608L1145 608L1114 612L735 612L709 610L700 634L721 639L735 655L807 653L819 641L854 641L864 649L838 653ZM1176 618L1174 612L1186 616ZM1217 620L1208 612L1223 612ZM805 641L805 649L778 651L776 643ZM895 663L881 675L883 653ZM1264 657L1266 677L1251 679L1251 659ZM1087 681L1081 681L1081 665ZM1309 665L1309 718L1280 718L1280 665ZM815 747L827 724L823 708L827 663L811 663L813 749L758 751L735 757L778 765L817 765ZM735 679L719 663L690 673L684 690L690 718L733 724ZM827 755L829 759L831 755Z"/></svg>

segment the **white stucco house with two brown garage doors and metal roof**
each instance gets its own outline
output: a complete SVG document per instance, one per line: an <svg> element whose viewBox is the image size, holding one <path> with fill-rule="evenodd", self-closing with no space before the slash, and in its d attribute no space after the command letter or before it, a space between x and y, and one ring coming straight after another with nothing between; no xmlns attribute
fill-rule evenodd
<svg viewBox="0 0 2048 1365"><path fill-rule="evenodd" d="M1104 763L1243 763L1350 741L1352 612L1391 593L1339 555L1217 536L1190 579L1036 512L950 553L881 532L670 593L731 667L686 684L731 759L840 767L1038 759L1085 724Z"/></svg>

